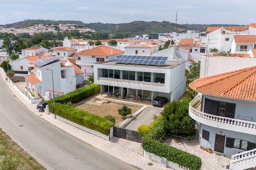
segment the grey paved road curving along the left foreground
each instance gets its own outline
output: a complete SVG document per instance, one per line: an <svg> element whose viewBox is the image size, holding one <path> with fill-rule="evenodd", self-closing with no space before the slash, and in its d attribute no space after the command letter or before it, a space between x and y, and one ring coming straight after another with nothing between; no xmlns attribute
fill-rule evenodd
<svg viewBox="0 0 256 170"><path fill-rule="evenodd" d="M137 169L30 112L0 78L0 127L47 169Z"/></svg>

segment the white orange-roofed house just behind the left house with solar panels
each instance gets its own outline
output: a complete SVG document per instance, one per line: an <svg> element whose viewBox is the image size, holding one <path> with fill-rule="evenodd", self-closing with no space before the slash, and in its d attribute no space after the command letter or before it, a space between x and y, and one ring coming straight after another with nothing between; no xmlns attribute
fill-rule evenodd
<svg viewBox="0 0 256 170"><path fill-rule="evenodd" d="M39 53L35 56L28 56L19 58L17 60L13 60L11 61L12 70L15 73L28 74L28 71L34 70L35 61L37 61L38 59L41 60L45 58L51 58L51 56L49 56L47 53Z"/></svg>

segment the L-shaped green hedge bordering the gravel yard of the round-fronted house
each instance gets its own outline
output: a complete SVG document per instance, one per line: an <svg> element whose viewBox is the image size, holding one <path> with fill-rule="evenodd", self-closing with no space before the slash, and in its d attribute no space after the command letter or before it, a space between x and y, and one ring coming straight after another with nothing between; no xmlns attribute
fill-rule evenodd
<svg viewBox="0 0 256 170"><path fill-rule="evenodd" d="M170 162L187 167L191 170L199 170L202 165L201 158L159 141L166 133L164 121L164 118L161 118L161 120L159 120L142 138L142 148L159 157L164 157Z"/></svg>

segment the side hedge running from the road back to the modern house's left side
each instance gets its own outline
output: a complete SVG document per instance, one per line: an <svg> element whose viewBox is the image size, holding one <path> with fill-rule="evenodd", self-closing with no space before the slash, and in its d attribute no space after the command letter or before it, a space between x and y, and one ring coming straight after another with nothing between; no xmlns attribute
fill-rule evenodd
<svg viewBox="0 0 256 170"><path fill-rule="evenodd" d="M82 101L87 97L97 94L97 92L100 92L99 84L90 84L89 86L85 86L74 91L71 91L66 95L56 97L55 102L61 104L65 104L68 102L78 103L79 101ZM47 101L47 104L52 103L52 101L52 99Z"/></svg>

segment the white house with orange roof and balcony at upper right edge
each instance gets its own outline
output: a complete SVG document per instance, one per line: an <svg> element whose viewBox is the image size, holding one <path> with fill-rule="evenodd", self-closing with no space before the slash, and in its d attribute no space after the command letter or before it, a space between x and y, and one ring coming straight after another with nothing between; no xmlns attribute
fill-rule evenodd
<svg viewBox="0 0 256 170"><path fill-rule="evenodd" d="M256 35L234 36L231 53L247 53L252 48L256 48Z"/></svg>

